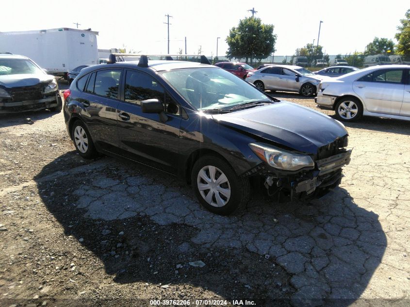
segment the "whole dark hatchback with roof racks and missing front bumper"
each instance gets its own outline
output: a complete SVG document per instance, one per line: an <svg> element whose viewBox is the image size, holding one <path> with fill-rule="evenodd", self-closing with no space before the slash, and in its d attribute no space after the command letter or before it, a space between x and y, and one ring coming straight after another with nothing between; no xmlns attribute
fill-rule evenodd
<svg viewBox="0 0 410 307"><path fill-rule="evenodd" d="M338 121L269 97L205 57L111 59L82 69L64 93L82 157L121 156L184 178L218 214L246 204L251 184L291 199L339 185L351 151Z"/></svg>

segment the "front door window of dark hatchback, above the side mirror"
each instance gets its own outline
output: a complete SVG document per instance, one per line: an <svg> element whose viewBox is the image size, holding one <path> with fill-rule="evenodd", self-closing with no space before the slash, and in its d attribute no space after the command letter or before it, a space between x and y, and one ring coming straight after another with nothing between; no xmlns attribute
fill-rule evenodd
<svg viewBox="0 0 410 307"><path fill-rule="evenodd" d="M125 101L141 104L142 100L159 99L164 102L164 88L151 76L128 70L125 77Z"/></svg>

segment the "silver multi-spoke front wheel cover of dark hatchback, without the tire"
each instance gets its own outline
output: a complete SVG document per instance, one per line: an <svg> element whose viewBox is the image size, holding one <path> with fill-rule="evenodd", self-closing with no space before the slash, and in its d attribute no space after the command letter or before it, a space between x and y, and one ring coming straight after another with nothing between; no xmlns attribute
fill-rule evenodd
<svg viewBox="0 0 410 307"><path fill-rule="evenodd" d="M230 200L230 183L217 167L206 165L197 176L197 187L202 198L213 207L223 207Z"/></svg>

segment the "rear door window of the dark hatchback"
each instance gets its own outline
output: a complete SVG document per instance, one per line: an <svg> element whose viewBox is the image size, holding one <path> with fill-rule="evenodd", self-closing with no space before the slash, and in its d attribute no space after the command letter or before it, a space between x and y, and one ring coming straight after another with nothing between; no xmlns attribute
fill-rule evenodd
<svg viewBox="0 0 410 307"><path fill-rule="evenodd" d="M118 97L118 86L121 70L100 70L97 72L94 94L109 98Z"/></svg>

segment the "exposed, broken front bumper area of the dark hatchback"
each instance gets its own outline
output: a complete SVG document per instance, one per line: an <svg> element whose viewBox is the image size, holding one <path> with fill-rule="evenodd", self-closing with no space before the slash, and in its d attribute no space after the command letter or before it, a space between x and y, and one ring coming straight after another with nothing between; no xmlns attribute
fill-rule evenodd
<svg viewBox="0 0 410 307"><path fill-rule="evenodd" d="M273 175L266 167L262 167L264 171L258 173L265 176L264 186L271 196L282 192L291 200L313 197L322 195L323 192L340 184L343 177L342 167L349 164L351 153L350 149L325 159L316 160L314 170L297 174Z"/></svg>

